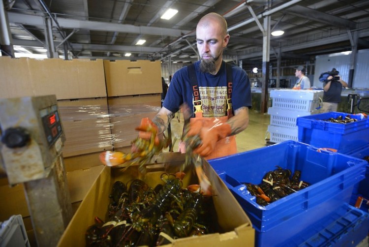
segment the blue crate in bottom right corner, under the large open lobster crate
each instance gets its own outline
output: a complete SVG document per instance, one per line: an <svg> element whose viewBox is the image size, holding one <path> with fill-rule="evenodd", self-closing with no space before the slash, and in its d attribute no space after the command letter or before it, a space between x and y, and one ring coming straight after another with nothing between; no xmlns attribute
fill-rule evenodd
<svg viewBox="0 0 369 247"><path fill-rule="evenodd" d="M368 236L369 214L344 204L282 247L357 246Z"/></svg>

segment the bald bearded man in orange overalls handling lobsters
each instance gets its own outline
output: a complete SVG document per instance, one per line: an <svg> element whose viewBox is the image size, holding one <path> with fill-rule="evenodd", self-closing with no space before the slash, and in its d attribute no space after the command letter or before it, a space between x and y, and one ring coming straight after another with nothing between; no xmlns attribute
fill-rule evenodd
<svg viewBox="0 0 369 247"><path fill-rule="evenodd" d="M221 15L209 13L200 19L196 42L201 60L173 75L163 106L152 121L160 137L182 109L189 124L187 136L201 139L193 152L206 159L237 153L235 134L248 125L250 80L245 70L223 61L229 38ZM185 152L184 142L179 151Z"/></svg>

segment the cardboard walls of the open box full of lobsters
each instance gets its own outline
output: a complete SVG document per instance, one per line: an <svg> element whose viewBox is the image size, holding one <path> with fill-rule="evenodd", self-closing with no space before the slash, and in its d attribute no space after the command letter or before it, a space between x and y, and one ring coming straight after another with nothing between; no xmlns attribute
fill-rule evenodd
<svg viewBox="0 0 369 247"><path fill-rule="evenodd" d="M77 212L65 229L58 246L86 246L85 232L94 224L94 217L105 219L109 194L116 181L128 182L132 179L142 179L148 185L155 186L160 183L160 175L163 172L175 173L180 171L184 163L184 154L162 153L155 156L152 164L146 166L147 173L144 176L138 171L137 166L130 166L125 171L121 168L104 167L99 177L93 183L91 189L83 199ZM203 236L177 239L173 246L254 246L255 231L245 211L233 197L227 186L216 175L209 163L203 160L206 175L214 189L214 207L219 224L219 233ZM187 186L197 182L194 167L190 166L184 171L183 184Z"/></svg>

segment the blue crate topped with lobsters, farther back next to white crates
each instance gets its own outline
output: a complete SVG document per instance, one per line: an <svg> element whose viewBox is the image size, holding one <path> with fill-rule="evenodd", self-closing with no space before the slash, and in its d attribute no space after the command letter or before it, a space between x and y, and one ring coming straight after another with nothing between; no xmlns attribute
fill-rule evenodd
<svg viewBox="0 0 369 247"><path fill-rule="evenodd" d="M369 142L369 119L360 120L359 116L351 115L358 121L346 124L324 121L347 115L328 112L297 118L299 142L319 148L336 149L342 154L365 146Z"/></svg>

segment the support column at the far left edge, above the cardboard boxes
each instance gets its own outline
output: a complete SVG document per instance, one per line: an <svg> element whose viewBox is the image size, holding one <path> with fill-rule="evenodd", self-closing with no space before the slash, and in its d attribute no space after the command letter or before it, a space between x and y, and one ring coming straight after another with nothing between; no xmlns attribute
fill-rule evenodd
<svg viewBox="0 0 369 247"><path fill-rule="evenodd" d="M0 49L2 56L10 56L14 58L12 41L8 15L4 8L4 2L0 1Z"/></svg>

